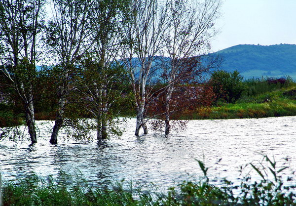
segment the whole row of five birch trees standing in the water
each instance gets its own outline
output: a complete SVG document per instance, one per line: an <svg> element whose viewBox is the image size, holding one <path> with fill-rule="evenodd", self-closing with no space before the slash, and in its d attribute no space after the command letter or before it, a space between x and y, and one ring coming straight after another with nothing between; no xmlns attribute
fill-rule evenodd
<svg viewBox="0 0 296 206"><path fill-rule="evenodd" d="M220 0L1 0L1 84L22 99L32 143L35 94L48 86L56 97L52 144L75 95L75 103L96 119L98 138L106 138L116 115L112 107L126 96L120 87L125 81L137 112L135 134L141 127L148 133L149 106L161 98L165 109L152 116L165 117L169 134L176 87L200 82L217 64L201 61L216 35L220 5ZM49 66L40 73L37 64ZM51 82L37 82L41 75Z"/></svg>

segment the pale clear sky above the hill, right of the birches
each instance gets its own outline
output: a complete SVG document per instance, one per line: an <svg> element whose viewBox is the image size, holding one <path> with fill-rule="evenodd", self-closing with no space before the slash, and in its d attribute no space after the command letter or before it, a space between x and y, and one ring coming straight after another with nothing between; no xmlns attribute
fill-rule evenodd
<svg viewBox="0 0 296 206"><path fill-rule="evenodd" d="M224 0L212 51L237 44L296 44L296 0Z"/></svg>

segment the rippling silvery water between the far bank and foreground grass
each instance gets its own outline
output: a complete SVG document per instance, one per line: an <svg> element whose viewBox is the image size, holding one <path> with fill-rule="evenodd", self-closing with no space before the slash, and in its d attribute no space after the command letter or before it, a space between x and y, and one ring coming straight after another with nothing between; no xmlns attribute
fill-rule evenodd
<svg viewBox="0 0 296 206"><path fill-rule="evenodd" d="M32 171L42 176L65 171L81 172L94 185L125 179L142 186L153 182L167 188L192 176L202 176L195 159L211 167L209 176L235 181L239 166L261 161L261 154L274 156L280 163L289 157L296 168L296 117L191 121L186 131L168 137L136 137L135 119L131 119L123 125L126 131L120 138L111 137L103 144L95 140L83 144L60 140L57 146L48 143L46 125L52 122L38 124L35 146L29 146L26 138L18 144L0 141L4 179ZM215 164L220 158L222 161ZM249 170L246 168L246 172Z"/></svg>

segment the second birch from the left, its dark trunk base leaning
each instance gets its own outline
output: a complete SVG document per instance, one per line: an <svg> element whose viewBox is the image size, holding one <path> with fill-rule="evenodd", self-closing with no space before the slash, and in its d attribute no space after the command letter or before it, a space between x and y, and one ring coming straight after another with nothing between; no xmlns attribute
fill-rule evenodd
<svg viewBox="0 0 296 206"><path fill-rule="evenodd" d="M77 62L88 51L87 41L91 31L91 1L52 0L53 17L48 23L47 43L58 65L55 70L57 82L57 111L50 143L56 144L58 132L64 122L64 112L69 92L73 89L72 78L77 70Z"/></svg>

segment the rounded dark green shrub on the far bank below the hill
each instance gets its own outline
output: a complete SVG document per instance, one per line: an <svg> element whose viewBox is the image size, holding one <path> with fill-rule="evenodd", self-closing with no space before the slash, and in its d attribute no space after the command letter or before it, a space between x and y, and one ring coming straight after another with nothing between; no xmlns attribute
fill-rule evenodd
<svg viewBox="0 0 296 206"><path fill-rule="evenodd" d="M227 103L235 103L245 90L243 77L238 71L215 71L212 73L210 84L217 100L224 99Z"/></svg>

